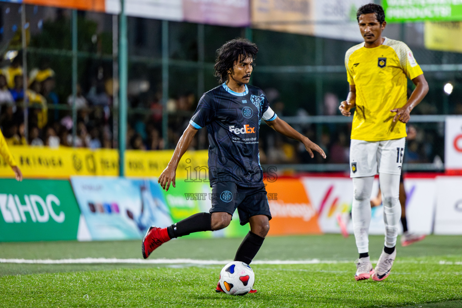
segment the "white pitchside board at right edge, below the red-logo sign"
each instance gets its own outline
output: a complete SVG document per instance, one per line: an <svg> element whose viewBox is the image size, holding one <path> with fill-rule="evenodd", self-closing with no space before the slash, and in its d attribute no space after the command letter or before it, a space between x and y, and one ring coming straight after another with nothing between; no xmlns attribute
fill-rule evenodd
<svg viewBox="0 0 462 308"><path fill-rule="evenodd" d="M462 176L438 176L435 234L462 234Z"/></svg>

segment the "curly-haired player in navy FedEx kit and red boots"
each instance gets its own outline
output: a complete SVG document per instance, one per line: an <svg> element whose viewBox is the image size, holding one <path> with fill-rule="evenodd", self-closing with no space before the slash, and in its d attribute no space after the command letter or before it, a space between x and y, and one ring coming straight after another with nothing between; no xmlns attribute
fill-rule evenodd
<svg viewBox="0 0 462 308"><path fill-rule="evenodd" d="M150 227L141 245L145 259L172 238L225 228L237 208L241 225L250 223L250 231L234 260L247 264L252 261L268 233L271 219L258 151L261 119L276 132L302 142L311 157L316 151L326 158L318 145L278 118L261 89L247 85L257 51L254 43L241 38L218 49L215 76L221 85L201 97L170 163L158 178L166 191L170 184L175 187L178 162L197 131L206 127L212 208L209 213L194 214L167 228ZM216 291L222 291L220 284Z"/></svg>

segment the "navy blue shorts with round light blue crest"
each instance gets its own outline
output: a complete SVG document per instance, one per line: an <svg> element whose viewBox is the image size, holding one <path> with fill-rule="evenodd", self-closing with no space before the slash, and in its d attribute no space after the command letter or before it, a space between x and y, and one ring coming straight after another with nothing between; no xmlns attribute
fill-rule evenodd
<svg viewBox="0 0 462 308"><path fill-rule="evenodd" d="M266 189L262 187L242 187L234 182L218 182L212 185L213 212L239 214L239 223L244 225L255 215L266 215L271 219Z"/></svg>

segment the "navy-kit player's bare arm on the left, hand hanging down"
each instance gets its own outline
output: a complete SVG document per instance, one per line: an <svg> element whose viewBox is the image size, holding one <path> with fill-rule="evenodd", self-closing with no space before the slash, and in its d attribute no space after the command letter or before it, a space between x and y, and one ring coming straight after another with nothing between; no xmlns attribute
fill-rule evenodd
<svg viewBox="0 0 462 308"><path fill-rule="evenodd" d="M165 191L169 190L170 183L175 187L175 177L176 177L176 168L178 167L178 163L180 162L181 157L183 154L188 150L191 141L193 140L195 134L197 133L198 129L193 127L191 124L184 130L180 140L178 140L178 144L176 145L175 151L173 152L173 156L170 159L167 168L162 171L159 176L157 182L162 186L162 189Z"/></svg>

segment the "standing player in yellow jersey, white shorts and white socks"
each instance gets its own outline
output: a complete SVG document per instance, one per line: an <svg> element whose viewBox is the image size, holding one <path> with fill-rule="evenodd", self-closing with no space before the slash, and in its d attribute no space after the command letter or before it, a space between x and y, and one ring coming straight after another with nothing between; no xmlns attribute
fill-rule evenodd
<svg viewBox="0 0 462 308"><path fill-rule="evenodd" d="M348 49L345 66L350 91L340 104L342 115L353 117L350 176L353 178L352 220L359 259L356 280L388 277L396 257L401 217L399 187L406 123L410 112L428 92L423 72L412 51L400 41L382 36L385 13L369 3L356 14L364 42ZM407 99L407 78L416 86ZM379 174L385 221L385 246L374 268L369 259L371 190Z"/></svg>

